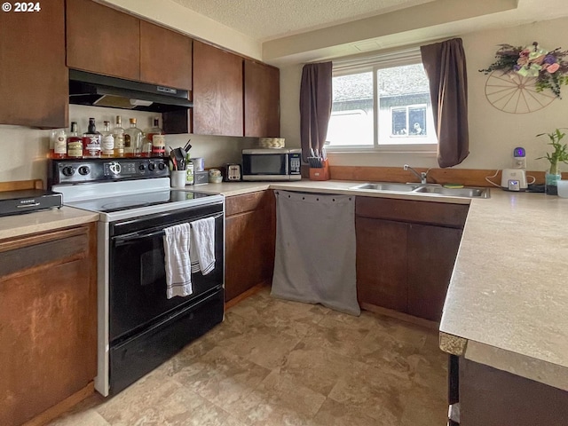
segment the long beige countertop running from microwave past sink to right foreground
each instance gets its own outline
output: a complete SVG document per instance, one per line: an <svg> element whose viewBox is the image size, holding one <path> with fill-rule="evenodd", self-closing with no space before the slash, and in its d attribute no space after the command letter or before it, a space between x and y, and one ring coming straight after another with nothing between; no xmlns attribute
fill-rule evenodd
<svg viewBox="0 0 568 426"><path fill-rule="evenodd" d="M492 188L489 199L349 189L358 182L195 186L225 196L281 189L469 204L440 323L443 350L568 390L568 199Z"/></svg>

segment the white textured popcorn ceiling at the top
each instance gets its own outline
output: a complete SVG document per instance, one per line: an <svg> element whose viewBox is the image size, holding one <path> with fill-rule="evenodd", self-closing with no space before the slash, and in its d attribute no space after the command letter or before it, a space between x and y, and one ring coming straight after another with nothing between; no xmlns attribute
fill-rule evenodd
<svg viewBox="0 0 568 426"><path fill-rule="evenodd" d="M259 41L393 12L433 0L172 0Z"/></svg>

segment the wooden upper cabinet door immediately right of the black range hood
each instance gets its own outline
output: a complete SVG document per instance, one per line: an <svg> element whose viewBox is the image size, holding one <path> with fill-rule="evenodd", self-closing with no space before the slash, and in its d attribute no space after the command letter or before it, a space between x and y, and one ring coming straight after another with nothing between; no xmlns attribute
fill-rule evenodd
<svg viewBox="0 0 568 426"><path fill-rule="evenodd" d="M193 42L193 133L243 136L242 58Z"/></svg>

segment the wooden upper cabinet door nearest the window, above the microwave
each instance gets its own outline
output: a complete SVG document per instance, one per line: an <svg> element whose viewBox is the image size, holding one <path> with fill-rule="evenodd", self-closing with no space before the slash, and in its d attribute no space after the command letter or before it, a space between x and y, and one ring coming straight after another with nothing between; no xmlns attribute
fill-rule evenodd
<svg viewBox="0 0 568 426"><path fill-rule="evenodd" d="M245 59L245 136L280 136L280 70Z"/></svg>

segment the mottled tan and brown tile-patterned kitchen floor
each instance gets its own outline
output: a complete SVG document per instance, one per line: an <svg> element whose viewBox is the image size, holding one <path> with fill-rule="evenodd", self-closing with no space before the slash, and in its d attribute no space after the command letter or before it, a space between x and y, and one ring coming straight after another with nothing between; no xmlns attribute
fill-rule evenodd
<svg viewBox="0 0 568 426"><path fill-rule="evenodd" d="M446 424L434 330L273 299L268 289L114 398L51 426Z"/></svg>

